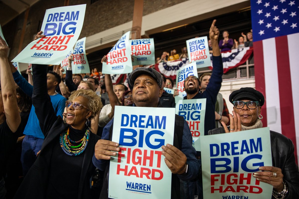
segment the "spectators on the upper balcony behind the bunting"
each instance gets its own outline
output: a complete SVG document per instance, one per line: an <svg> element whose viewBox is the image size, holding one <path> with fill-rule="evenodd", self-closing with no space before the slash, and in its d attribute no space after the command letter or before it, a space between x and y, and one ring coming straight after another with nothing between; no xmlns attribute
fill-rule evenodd
<svg viewBox="0 0 299 199"><path fill-rule="evenodd" d="M238 38L238 41L236 39L228 38L229 33L227 30L224 30L222 32L222 37L219 41L219 48L221 52L225 52L232 49L238 49L238 48L244 48L244 47L252 47L253 46L253 38L252 38L252 30L251 32L248 32L246 35L244 33L241 33L241 36ZM212 53L212 42L211 40L208 40L209 45L209 52ZM164 51L161 55L161 57L156 58L156 64L159 64L160 62L166 62L166 61L173 61L176 59L181 58L187 58L188 57L188 51L187 47L184 47L181 49L182 53L179 55L175 49L170 51L170 54L166 51Z"/></svg>

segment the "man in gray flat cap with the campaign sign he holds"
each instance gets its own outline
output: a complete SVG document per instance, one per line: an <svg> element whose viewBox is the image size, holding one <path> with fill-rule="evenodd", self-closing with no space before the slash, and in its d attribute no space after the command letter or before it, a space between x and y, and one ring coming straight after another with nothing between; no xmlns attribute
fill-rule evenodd
<svg viewBox="0 0 299 199"><path fill-rule="evenodd" d="M129 198L143 192L144 198L173 198L179 179L196 177L199 164L190 129L175 109L161 107L162 83L161 74L152 68L138 67L129 74L134 104L115 106L114 118L95 146L94 165L109 170L109 180L104 180L108 185L103 185L109 195L101 196ZM112 186L115 181L121 181L118 187Z"/></svg>

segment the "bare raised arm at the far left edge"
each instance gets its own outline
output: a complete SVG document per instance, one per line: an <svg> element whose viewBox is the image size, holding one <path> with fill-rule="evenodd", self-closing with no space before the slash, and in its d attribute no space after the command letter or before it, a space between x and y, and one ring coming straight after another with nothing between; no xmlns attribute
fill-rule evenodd
<svg viewBox="0 0 299 199"><path fill-rule="evenodd" d="M13 75L10 71L7 53L8 46L0 36L1 94L7 125L12 132L16 132L21 123L21 117L16 98L16 87L13 81Z"/></svg>

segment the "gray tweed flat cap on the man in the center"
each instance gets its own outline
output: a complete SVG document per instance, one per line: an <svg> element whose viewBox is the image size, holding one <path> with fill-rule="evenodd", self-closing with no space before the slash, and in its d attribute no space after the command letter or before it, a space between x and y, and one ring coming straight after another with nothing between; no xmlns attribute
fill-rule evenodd
<svg viewBox="0 0 299 199"><path fill-rule="evenodd" d="M135 82L135 79L140 76L141 74L144 74L144 75L149 75L151 76L152 78L154 78L159 87L161 88L162 87L162 83L163 83L163 78L162 78L162 75L160 72L156 71L155 69L153 68L144 68L144 67L137 67L135 70L133 70L130 74L129 74L129 84L131 87L134 86L134 82Z"/></svg>

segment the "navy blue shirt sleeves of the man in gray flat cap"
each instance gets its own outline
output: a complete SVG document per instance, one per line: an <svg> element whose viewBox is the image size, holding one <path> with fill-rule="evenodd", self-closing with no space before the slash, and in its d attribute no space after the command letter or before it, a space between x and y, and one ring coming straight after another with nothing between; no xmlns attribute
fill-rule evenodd
<svg viewBox="0 0 299 199"><path fill-rule="evenodd" d="M135 104L133 104L134 106ZM102 138L104 140L109 140L109 129L114 121L114 118L104 127ZM188 181L196 178L199 172L199 163L195 157L196 151L192 146L192 135L188 123L184 120L184 132L182 137L182 148L183 152L187 157L188 172L186 175L177 175L181 180ZM161 149L162 150L162 149ZM98 169L104 171L106 168L107 160L98 160L95 156L92 157L92 163Z"/></svg>

